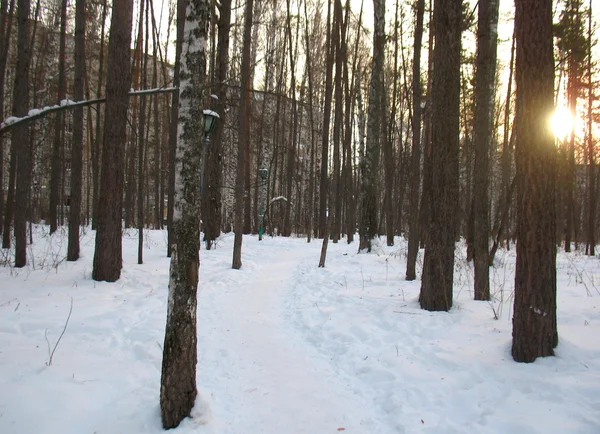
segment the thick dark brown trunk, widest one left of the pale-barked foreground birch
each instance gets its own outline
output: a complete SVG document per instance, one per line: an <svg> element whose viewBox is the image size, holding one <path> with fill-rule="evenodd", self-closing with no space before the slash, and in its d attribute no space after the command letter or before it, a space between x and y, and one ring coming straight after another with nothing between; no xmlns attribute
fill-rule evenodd
<svg viewBox="0 0 600 434"><path fill-rule="evenodd" d="M129 67L133 0L116 2L112 9L108 42L108 74L102 173L100 176L99 222L92 278L114 282L121 276L123 163L127 140L127 108L131 86Z"/></svg>

